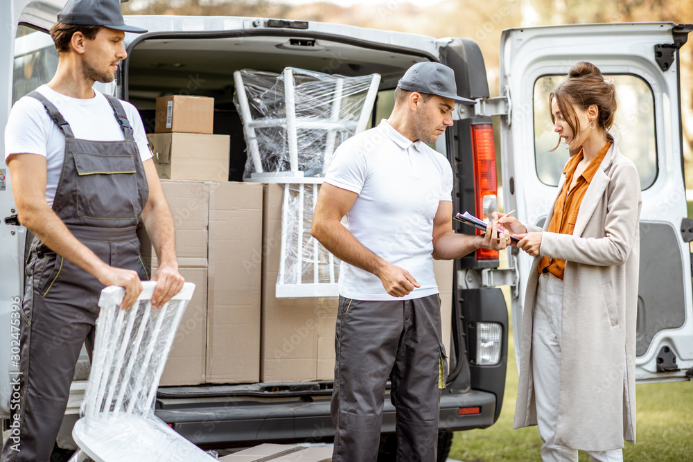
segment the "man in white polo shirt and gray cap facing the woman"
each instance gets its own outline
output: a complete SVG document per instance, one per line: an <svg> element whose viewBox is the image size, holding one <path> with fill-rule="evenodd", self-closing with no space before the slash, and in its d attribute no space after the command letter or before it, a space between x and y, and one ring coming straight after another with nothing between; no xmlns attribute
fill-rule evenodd
<svg viewBox="0 0 693 462"><path fill-rule="evenodd" d="M453 125L455 101L475 103L457 96L452 69L414 64L389 118L337 148L320 189L311 233L342 260L334 462L376 461L388 377L398 460L435 461L447 366L433 258L510 241L495 224L483 236L453 233L453 170L426 143Z"/></svg>

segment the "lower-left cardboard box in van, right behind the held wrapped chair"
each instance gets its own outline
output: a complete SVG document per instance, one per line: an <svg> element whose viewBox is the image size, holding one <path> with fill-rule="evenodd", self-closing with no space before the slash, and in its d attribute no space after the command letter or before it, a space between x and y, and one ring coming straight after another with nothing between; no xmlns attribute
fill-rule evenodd
<svg viewBox="0 0 693 462"><path fill-rule="evenodd" d="M195 284L193 298L183 314L159 385L204 383L207 343L207 268L178 269L186 281Z"/></svg>

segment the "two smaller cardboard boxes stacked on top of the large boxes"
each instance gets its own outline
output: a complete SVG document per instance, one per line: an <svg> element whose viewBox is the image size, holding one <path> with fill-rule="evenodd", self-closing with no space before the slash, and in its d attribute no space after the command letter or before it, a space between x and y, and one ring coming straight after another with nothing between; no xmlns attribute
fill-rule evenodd
<svg viewBox="0 0 693 462"><path fill-rule="evenodd" d="M229 135L214 135L214 98L157 98L155 133L148 135L160 178L227 181Z"/></svg>

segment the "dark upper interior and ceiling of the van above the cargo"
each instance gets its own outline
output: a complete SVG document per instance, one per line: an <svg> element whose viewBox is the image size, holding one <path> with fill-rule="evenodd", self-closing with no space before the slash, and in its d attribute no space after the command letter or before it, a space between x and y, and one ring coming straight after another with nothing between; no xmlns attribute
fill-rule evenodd
<svg viewBox="0 0 693 462"><path fill-rule="evenodd" d="M245 139L234 105L234 71L281 73L291 66L347 76L379 73L378 98L369 126L389 116L397 81L415 62L405 50L286 36L191 37L183 34L135 42L124 63L123 99L135 105L147 133L154 132L159 96L185 94L214 98L214 134L231 138L229 181L243 181Z"/></svg>

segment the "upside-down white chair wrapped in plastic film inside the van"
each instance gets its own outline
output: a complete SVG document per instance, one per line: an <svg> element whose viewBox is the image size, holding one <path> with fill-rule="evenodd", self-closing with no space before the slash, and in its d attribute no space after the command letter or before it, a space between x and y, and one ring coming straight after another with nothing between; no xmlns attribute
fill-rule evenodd
<svg viewBox="0 0 693 462"><path fill-rule="evenodd" d="M277 297L336 296L339 261L310 236L335 148L365 130L380 75L234 72L247 145L244 181L284 184Z"/></svg>

